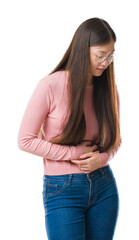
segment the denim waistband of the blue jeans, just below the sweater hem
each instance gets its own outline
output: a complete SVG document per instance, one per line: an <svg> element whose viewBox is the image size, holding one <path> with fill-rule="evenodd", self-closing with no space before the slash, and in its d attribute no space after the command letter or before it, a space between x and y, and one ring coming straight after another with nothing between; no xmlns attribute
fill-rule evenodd
<svg viewBox="0 0 139 240"><path fill-rule="evenodd" d="M64 175L44 175L43 179L60 179L60 180L69 180L69 177L72 177L73 180L87 180L91 176L96 175L105 175L107 171L109 171L110 166L109 164L105 167L99 168L95 171L90 173L71 173L71 174L64 174Z"/></svg>

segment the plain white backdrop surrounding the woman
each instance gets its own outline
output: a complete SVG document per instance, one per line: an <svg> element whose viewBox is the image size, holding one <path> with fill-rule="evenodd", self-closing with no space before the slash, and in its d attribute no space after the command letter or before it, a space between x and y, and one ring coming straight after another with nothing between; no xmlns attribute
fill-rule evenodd
<svg viewBox="0 0 139 240"><path fill-rule="evenodd" d="M115 240L139 239L139 88L137 1L0 2L0 239L46 240L43 160L18 148L17 135L38 81L49 74L86 19L108 21L117 35L115 75L122 146L110 161L120 196ZM65 239L66 240L66 239Z"/></svg>

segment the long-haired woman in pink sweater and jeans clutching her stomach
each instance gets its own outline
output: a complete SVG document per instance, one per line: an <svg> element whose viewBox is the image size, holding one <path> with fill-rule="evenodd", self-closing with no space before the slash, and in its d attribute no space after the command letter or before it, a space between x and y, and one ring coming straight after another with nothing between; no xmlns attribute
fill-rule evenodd
<svg viewBox="0 0 139 240"><path fill-rule="evenodd" d="M84 21L23 116L19 148L43 157L49 240L113 239L119 195L109 161L121 144L115 42L106 21Z"/></svg>

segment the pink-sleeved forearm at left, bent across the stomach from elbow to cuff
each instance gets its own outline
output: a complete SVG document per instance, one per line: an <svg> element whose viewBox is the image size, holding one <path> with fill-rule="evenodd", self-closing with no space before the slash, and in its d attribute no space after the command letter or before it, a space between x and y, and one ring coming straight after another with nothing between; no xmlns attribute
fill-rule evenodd
<svg viewBox="0 0 139 240"><path fill-rule="evenodd" d="M80 159L80 155L83 154L80 145L53 144L49 141L38 139L37 135L32 133L24 133L23 136L19 134L18 146L23 151L55 161Z"/></svg>

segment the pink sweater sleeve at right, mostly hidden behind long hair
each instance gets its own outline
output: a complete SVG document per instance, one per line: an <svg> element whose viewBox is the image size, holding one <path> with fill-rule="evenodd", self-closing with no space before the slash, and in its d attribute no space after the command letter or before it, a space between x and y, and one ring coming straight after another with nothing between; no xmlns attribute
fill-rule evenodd
<svg viewBox="0 0 139 240"><path fill-rule="evenodd" d="M117 89L117 85L116 85L116 89ZM119 119L120 119L120 100L119 100L118 90L117 90L117 102L118 102L118 115L119 115ZM99 153L101 167L106 166L107 163L115 156L115 154L118 152L121 144L122 144L122 138L120 136L120 141L116 148L114 148L113 150L108 151L108 152Z"/></svg>

